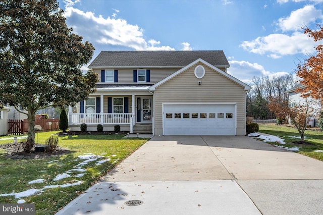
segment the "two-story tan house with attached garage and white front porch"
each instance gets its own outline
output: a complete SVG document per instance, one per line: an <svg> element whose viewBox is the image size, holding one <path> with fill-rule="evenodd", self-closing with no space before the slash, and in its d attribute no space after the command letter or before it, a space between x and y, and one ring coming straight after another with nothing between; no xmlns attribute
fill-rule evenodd
<svg viewBox="0 0 323 215"><path fill-rule="evenodd" d="M250 86L226 73L223 51L101 51L89 65L96 92L69 109L86 123L153 135L245 135Z"/></svg>

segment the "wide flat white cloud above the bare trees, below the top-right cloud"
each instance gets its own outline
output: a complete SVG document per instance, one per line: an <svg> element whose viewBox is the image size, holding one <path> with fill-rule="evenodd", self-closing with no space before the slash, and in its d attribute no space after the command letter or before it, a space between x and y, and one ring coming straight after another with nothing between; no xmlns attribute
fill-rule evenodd
<svg viewBox="0 0 323 215"><path fill-rule="evenodd" d="M307 37L304 33L294 32L291 36L286 34L270 34L268 36L257 37L252 41L243 41L240 47L277 59L282 56L295 55L297 53L312 53L314 46L317 45L312 38Z"/></svg>

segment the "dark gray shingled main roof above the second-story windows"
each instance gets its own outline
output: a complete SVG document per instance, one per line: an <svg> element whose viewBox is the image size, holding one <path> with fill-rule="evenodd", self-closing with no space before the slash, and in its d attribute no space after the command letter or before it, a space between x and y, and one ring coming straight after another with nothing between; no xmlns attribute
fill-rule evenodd
<svg viewBox="0 0 323 215"><path fill-rule="evenodd" d="M101 51L88 67L186 66L197 59L229 67L222 50L198 51Z"/></svg>

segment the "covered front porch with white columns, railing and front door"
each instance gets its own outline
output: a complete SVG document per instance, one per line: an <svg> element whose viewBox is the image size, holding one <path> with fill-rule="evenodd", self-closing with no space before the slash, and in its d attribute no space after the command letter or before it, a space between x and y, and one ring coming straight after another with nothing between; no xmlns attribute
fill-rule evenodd
<svg viewBox="0 0 323 215"><path fill-rule="evenodd" d="M71 131L79 131L80 125L85 123L88 131L96 131L96 126L100 124L103 131L114 131L114 126L120 125L121 131L151 134L152 100L151 95L93 95L77 104L74 113L73 108L69 108L69 126Z"/></svg>

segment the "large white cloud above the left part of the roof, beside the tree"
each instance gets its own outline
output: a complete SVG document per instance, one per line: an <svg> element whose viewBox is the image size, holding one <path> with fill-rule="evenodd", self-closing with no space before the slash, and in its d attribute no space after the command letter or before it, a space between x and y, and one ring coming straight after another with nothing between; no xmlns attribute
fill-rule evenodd
<svg viewBox="0 0 323 215"><path fill-rule="evenodd" d="M135 50L175 50L170 46L155 46L160 44L155 40L146 42L143 29L124 19L105 19L73 7L65 8L65 17L77 34L98 45L124 46Z"/></svg>

